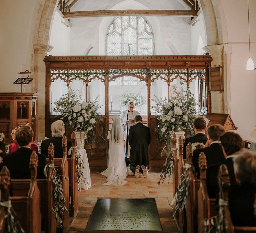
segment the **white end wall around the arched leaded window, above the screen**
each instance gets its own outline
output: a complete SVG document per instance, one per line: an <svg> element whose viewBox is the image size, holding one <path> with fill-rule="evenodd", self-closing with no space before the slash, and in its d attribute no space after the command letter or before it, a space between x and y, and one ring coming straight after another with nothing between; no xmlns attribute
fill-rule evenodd
<svg viewBox="0 0 256 233"><path fill-rule="evenodd" d="M99 9L188 9L182 1L88 1L81 0L72 11ZM71 19L70 55L84 55L91 44L88 55L105 55L106 30L114 17L73 18ZM156 55L191 54L191 27L189 18L146 17L155 35ZM89 25L89 27L88 27ZM170 44L171 47L170 48ZM169 46L168 46L169 45Z"/></svg>

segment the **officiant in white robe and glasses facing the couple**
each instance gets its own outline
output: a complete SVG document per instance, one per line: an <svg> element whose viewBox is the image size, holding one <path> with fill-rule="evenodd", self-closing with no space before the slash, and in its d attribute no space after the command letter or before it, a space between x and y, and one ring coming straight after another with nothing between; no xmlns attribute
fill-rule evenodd
<svg viewBox="0 0 256 233"><path fill-rule="evenodd" d="M123 131L125 132L125 136L126 136L125 147L124 147L125 162L126 162L126 166L129 166L130 149L131 149L128 143L129 129L132 125L135 124L134 117L137 115L140 115L140 113L134 110L135 105L132 101L128 103L127 107L128 109L121 113L120 118L121 118Z"/></svg>

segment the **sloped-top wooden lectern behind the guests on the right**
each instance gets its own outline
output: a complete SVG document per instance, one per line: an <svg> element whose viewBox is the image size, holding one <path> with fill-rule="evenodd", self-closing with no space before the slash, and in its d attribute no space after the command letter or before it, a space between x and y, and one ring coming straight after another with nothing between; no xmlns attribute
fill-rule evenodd
<svg viewBox="0 0 256 233"><path fill-rule="evenodd" d="M221 124L226 130L237 130L237 127L229 114L207 113L205 117L210 120L208 126L211 124Z"/></svg>

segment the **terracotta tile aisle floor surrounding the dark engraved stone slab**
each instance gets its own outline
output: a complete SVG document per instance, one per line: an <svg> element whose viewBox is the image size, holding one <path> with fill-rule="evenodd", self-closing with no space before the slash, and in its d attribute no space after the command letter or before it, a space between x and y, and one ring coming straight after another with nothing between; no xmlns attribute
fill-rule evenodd
<svg viewBox="0 0 256 233"><path fill-rule="evenodd" d="M82 231L86 228L89 217L97 198L155 198L157 209L163 231L179 232L176 221L172 217L172 184L166 180L158 185L160 173L149 172L148 178L138 178L127 176L127 183L124 186L105 186L106 177L100 173L91 172L91 188L82 189L79 192L79 212L75 218L70 219L69 233Z"/></svg>

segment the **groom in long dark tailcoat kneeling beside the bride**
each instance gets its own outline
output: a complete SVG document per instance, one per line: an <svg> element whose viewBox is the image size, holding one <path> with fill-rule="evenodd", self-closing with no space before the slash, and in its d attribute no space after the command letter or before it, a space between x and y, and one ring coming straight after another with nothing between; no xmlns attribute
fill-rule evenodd
<svg viewBox="0 0 256 233"><path fill-rule="evenodd" d="M148 145L150 143L150 129L142 124L142 117L137 115L134 117L135 125L132 125L129 130L130 150L130 169L138 178L140 171L144 178L147 178L148 164Z"/></svg>

